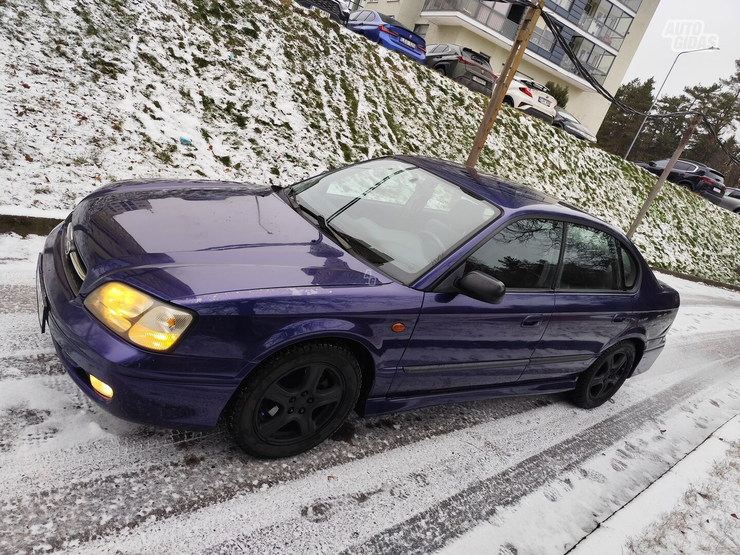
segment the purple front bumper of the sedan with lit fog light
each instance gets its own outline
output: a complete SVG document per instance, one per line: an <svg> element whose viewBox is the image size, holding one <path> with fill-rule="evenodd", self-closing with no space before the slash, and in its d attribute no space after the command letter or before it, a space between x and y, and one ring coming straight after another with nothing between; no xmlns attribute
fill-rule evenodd
<svg viewBox="0 0 740 555"><path fill-rule="evenodd" d="M246 361L184 357L138 349L87 312L64 272L64 223L47 238L40 279L47 297L47 329L64 369L98 406L125 420L205 430L218 422L238 388ZM113 388L108 399L90 385L92 374Z"/></svg>

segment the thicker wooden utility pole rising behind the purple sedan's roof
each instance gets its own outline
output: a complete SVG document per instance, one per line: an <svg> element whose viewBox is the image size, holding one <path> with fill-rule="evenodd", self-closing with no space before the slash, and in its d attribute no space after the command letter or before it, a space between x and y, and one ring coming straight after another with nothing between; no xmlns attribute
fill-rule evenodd
<svg viewBox="0 0 740 555"><path fill-rule="evenodd" d="M473 139L473 148L468 156L468 161L465 165L471 168L475 167L478 162L478 157L485 144L485 139L488 138L488 133L491 132L491 128L494 127L494 121L496 116L499 114L501 104L504 101L506 91L511 80L514 78L514 73L517 73L517 67L519 62L522 61L525 50L527 50L527 44L529 38L534 32L534 26L539 19L539 14L542 13L542 8L545 7L545 0L539 0L536 7L530 7L524 16L522 24L519 25L519 33L517 38L514 39L514 44L511 47L511 52L506 58L503 69L499 78L496 80L496 86L494 92L491 94L491 100L488 101L488 107L485 109L485 115L483 116L480 126L478 126L478 132L475 134Z"/></svg>

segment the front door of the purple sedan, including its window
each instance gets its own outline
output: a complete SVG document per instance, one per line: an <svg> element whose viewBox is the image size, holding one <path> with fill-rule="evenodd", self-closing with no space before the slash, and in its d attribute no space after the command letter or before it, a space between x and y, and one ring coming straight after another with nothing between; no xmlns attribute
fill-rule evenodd
<svg viewBox="0 0 740 555"><path fill-rule="evenodd" d="M507 292L499 304L426 292L389 394L516 382L554 308L562 229L549 219L514 221L454 270L451 277L480 271L501 280Z"/></svg>

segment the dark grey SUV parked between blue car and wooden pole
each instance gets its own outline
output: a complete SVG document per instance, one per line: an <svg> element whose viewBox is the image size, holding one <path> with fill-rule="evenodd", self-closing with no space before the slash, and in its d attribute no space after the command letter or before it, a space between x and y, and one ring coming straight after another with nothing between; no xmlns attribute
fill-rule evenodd
<svg viewBox="0 0 740 555"><path fill-rule="evenodd" d="M491 56L460 44L427 44L424 63L470 90L491 96L496 78L490 60Z"/></svg>

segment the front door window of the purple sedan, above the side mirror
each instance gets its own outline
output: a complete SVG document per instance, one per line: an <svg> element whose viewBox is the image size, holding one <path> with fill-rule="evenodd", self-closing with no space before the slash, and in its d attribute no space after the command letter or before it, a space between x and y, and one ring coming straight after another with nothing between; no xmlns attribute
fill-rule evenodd
<svg viewBox="0 0 740 555"><path fill-rule="evenodd" d="M484 272L510 289L552 289L562 225L553 220L516 221L468 258L465 273Z"/></svg>

